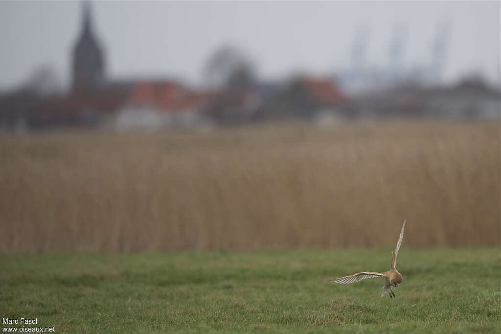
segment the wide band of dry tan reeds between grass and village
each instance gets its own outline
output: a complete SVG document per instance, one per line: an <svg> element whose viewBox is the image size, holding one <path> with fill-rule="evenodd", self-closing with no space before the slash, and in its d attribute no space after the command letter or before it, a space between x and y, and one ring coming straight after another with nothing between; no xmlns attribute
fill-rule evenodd
<svg viewBox="0 0 501 334"><path fill-rule="evenodd" d="M497 245L497 122L0 137L0 251Z"/></svg>

